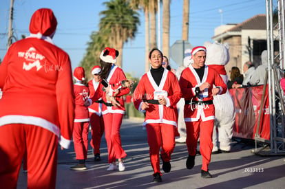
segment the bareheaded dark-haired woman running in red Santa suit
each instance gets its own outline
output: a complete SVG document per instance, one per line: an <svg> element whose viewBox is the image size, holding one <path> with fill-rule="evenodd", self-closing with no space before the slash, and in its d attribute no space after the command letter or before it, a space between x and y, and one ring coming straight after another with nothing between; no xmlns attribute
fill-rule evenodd
<svg viewBox="0 0 285 189"><path fill-rule="evenodd" d="M154 182L161 182L160 157L162 170L171 170L171 153L175 147L175 127L178 112L176 103L182 93L178 79L166 68L162 67L162 52L152 49L149 52L151 69L142 76L134 91L133 102L138 111L146 111L144 125L147 129L147 142L151 166L154 169Z"/></svg>

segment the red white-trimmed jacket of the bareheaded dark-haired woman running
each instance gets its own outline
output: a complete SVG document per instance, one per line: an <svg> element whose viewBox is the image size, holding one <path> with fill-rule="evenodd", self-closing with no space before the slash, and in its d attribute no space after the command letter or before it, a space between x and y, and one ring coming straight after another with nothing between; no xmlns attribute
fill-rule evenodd
<svg viewBox="0 0 285 189"><path fill-rule="evenodd" d="M178 113L176 103L180 100L182 93L178 85L176 76L167 69L164 70L160 85L156 85L151 72L143 75L138 82L138 86L133 94L134 106L138 111L142 111L141 105L147 100L154 100L154 93L160 91L167 91L167 105L150 104L146 110L145 123L165 123L177 126Z"/></svg>

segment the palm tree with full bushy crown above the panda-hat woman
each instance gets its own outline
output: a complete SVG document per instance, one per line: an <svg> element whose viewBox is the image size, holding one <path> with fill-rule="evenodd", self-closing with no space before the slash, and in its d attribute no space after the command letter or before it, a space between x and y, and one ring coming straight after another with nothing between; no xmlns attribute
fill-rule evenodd
<svg viewBox="0 0 285 189"><path fill-rule="evenodd" d="M100 12L103 16L99 23L100 30L109 33L109 44L120 52L116 65L122 67L123 45L134 38L140 24L138 12L131 9L126 0L111 0L103 4L107 10Z"/></svg>

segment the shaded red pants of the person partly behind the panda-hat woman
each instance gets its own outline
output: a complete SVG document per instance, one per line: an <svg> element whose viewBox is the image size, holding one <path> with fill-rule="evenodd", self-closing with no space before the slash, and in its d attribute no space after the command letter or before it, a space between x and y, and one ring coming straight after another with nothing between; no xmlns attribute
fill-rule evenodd
<svg viewBox="0 0 285 189"><path fill-rule="evenodd" d="M101 137L104 133L104 120L103 116L99 116L96 113L89 112L91 134L92 139L90 145L94 148L94 155L100 154Z"/></svg>

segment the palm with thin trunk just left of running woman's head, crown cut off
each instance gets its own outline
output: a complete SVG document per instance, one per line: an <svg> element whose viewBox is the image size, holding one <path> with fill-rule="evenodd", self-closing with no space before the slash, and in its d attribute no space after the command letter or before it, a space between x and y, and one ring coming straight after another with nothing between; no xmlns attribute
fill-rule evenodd
<svg viewBox="0 0 285 189"><path fill-rule="evenodd" d="M130 0L132 8L145 12L145 72L149 71L149 0Z"/></svg>

